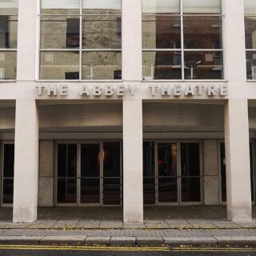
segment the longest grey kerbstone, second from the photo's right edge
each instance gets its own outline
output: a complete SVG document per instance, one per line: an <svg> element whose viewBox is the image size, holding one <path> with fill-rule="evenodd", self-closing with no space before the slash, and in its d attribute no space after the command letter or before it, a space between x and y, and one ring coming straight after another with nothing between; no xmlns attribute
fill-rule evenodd
<svg viewBox="0 0 256 256"><path fill-rule="evenodd" d="M169 246L217 246L217 241L215 238L163 238L165 245Z"/></svg>

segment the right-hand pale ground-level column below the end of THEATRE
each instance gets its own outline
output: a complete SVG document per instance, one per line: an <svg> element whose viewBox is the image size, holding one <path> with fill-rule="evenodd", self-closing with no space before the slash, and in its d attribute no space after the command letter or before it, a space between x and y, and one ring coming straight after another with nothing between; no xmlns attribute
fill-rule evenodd
<svg viewBox="0 0 256 256"><path fill-rule="evenodd" d="M234 222L251 221L247 100L230 99L224 108L227 218Z"/></svg>

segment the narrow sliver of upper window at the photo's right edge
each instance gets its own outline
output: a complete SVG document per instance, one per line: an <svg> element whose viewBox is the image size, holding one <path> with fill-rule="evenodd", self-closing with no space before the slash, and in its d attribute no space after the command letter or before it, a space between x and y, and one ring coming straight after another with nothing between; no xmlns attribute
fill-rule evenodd
<svg viewBox="0 0 256 256"><path fill-rule="evenodd" d="M256 2L245 0L246 77L256 80Z"/></svg>

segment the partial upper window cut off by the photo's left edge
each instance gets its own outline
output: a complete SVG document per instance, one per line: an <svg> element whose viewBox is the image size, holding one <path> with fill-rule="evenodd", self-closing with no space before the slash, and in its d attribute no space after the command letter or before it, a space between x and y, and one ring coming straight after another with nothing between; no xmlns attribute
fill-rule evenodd
<svg viewBox="0 0 256 256"><path fill-rule="evenodd" d="M16 79L18 0L0 1L0 80Z"/></svg>

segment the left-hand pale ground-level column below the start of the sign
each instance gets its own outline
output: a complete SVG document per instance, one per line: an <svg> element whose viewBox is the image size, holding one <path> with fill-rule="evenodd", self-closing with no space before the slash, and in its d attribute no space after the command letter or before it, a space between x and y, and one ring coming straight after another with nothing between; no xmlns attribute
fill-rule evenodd
<svg viewBox="0 0 256 256"><path fill-rule="evenodd" d="M16 100L14 222L34 222L38 209L38 107Z"/></svg>

